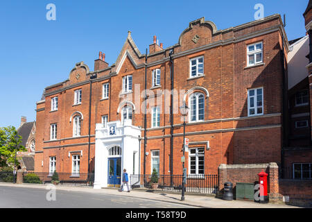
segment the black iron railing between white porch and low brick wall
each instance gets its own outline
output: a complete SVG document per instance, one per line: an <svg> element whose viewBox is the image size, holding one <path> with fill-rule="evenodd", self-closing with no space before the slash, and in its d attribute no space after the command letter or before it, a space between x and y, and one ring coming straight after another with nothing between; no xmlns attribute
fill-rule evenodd
<svg viewBox="0 0 312 222"><path fill-rule="evenodd" d="M132 189L150 191L182 191L182 175L159 175L158 181L152 175L131 175ZM155 182L157 181L157 182ZM218 175L188 175L184 191L187 193L216 194Z"/></svg>

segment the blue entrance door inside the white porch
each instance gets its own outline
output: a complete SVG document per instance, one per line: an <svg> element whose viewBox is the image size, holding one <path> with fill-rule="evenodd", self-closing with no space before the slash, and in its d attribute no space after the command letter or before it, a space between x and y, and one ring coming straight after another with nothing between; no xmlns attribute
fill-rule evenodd
<svg viewBox="0 0 312 222"><path fill-rule="evenodd" d="M108 159L108 187L121 185L121 157Z"/></svg>

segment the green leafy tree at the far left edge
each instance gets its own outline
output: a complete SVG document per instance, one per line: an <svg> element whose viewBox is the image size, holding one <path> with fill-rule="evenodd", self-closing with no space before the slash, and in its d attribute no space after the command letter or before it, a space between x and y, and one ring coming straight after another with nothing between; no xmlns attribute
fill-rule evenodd
<svg viewBox="0 0 312 222"><path fill-rule="evenodd" d="M17 135L14 126L0 128L0 167L12 167L15 162L15 148L17 152L27 151L21 146L21 136ZM16 159L16 167L19 166L19 158Z"/></svg>

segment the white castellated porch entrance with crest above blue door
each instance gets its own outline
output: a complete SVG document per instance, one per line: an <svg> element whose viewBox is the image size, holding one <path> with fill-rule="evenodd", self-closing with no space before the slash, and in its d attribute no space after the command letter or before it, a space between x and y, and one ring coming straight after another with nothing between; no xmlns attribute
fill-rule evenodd
<svg viewBox="0 0 312 222"><path fill-rule="evenodd" d="M139 174L141 130L131 119L96 124L94 189L120 187L123 169L128 176Z"/></svg>

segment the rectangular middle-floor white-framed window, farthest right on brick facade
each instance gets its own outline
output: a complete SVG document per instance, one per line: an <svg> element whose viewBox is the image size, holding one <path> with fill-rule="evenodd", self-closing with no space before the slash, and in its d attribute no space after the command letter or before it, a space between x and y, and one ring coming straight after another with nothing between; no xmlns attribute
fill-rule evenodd
<svg viewBox="0 0 312 222"><path fill-rule="evenodd" d="M263 88L248 89L248 117L263 114Z"/></svg>

